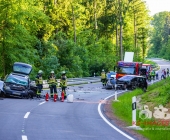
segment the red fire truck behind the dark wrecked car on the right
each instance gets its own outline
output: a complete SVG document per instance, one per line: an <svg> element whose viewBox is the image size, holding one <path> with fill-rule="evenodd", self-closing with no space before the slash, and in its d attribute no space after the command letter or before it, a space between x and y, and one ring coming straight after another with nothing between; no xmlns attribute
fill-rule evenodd
<svg viewBox="0 0 170 140"><path fill-rule="evenodd" d="M128 74L128 75L139 75L140 69L142 68L142 62L124 62L118 61L116 79Z"/></svg>

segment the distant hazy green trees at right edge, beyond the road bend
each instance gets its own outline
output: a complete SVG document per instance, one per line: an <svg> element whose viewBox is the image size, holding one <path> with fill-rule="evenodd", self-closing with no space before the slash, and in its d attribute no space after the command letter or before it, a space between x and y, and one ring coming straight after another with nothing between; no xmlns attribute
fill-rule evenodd
<svg viewBox="0 0 170 140"><path fill-rule="evenodd" d="M151 25L148 56L170 60L170 12L155 14Z"/></svg>

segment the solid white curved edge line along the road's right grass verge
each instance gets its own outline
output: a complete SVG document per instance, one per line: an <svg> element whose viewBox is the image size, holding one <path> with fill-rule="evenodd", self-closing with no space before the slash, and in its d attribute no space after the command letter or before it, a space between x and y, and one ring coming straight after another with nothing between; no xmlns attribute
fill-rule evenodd
<svg viewBox="0 0 170 140"><path fill-rule="evenodd" d="M120 94L122 92L119 92L118 94ZM107 100L108 98L112 97L114 95L110 95L108 97L106 97L104 100ZM127 135L126 133L124 133L123 131L121 131L120 129L118 129L116 126L114 126L113 124L111 124L102 114L101 112L101 104L102 103L99 103L98 105L98 112L99 112L99 115L100 117L108 124L110 125L113 129L115 129L117 132L119 132L120 134L122 134L123 136L125 136L126 138L130 139L130 140L135 140L134 138L130 137L129 135Z"/></svg>

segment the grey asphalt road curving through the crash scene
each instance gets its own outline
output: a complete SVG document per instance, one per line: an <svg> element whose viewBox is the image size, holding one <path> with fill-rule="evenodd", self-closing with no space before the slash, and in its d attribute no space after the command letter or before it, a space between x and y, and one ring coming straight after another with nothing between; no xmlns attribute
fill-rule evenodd
<svg viewBox="0 0 170 140"><path fill-rule="evenodd" d="M170 62L154 61L161 69L170 68ZM74 95L73 103L44 99L0 100L0 140L135 139L106 123L101 113L103 99L113 96L114 90L103 89L101 83L91 83L70 86L67 93Z"/></svg>

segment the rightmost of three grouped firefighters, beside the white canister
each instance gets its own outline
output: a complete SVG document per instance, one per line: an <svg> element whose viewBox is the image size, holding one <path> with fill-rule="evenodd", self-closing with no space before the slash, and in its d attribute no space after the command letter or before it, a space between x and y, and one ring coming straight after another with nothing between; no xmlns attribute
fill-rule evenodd
<svg viewBox="0 0 170 140"><path fill-rule="evenodd" d="M60 79L60 87L62 92L64 92L64 99L66 99L67 76L65 71L62 71L62 75Z"/></svg>

